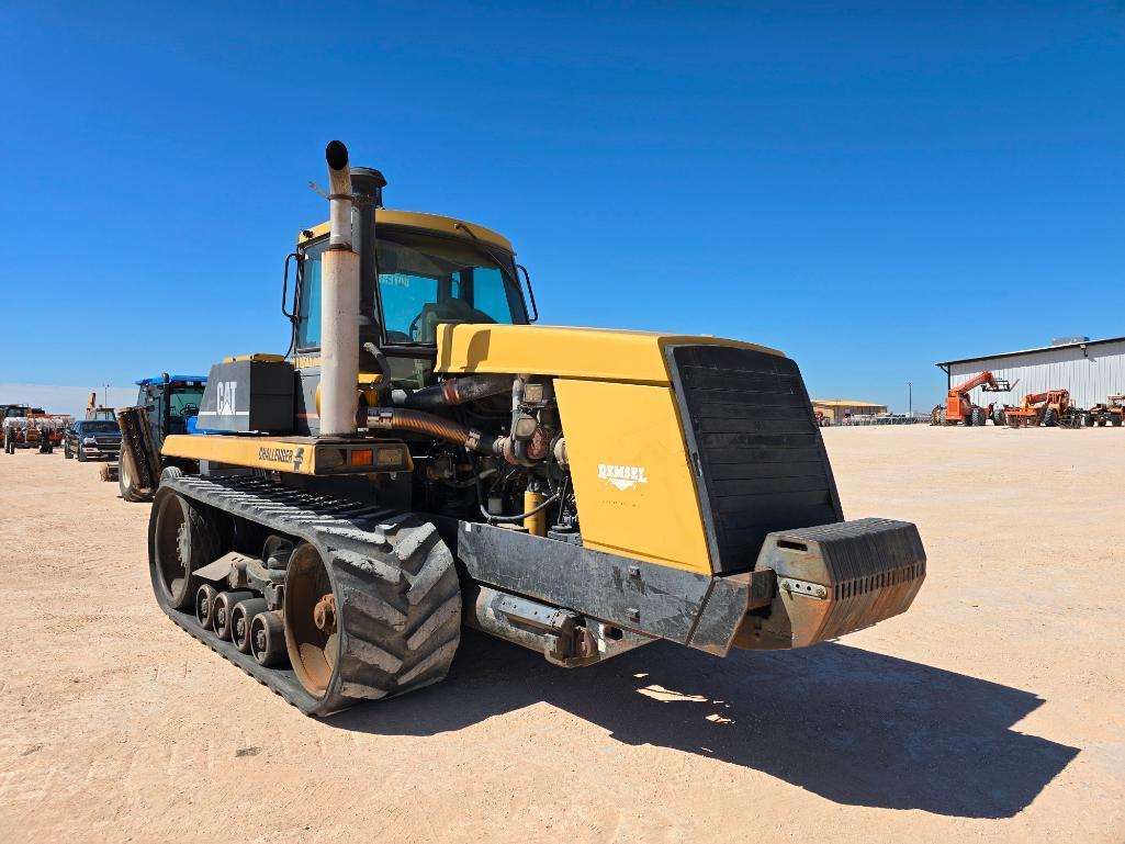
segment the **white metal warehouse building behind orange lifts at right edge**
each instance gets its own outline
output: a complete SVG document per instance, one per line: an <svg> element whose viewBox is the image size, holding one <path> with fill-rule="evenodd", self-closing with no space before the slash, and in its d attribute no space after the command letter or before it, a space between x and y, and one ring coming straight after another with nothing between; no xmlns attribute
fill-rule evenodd
<svg viewBox="0 0 1125 844"><path fill-rule="evenodd" d="M974 404L987 405L993 401L1019 404L1029 393L1069 389L1073 404L1090 407L1105 402L1109 395L1125 393L1125 336L1056 340L1041 349L946 360L937 366L948 376L950 387L986 370L1011 381L1010 393L984 394L974 389Z"/></svg>

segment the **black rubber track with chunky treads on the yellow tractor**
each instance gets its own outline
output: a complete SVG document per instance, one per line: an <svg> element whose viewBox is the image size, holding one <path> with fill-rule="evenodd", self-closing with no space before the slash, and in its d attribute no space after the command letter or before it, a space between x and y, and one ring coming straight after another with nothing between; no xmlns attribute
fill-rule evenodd
<svg viewBox="0 0 1125 844"><path fill-rule="evenodd" d="M169 477L195 502L313 544L328 568L340 613L340 656L323 698L291 668L263 668L195 617L164 607L187 632L303 712L328 715L364 699L444 679L460 638L461 600L449 548L410 513L272 484L256 477Z"/></svg>

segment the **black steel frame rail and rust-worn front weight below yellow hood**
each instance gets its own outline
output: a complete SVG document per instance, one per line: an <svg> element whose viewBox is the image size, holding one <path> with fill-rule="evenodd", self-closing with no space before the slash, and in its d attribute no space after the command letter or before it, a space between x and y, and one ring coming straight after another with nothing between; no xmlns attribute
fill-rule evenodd
<svg viewBox="0 0 1125 844"><path fill-rule="evenodd" d="M729 576L475 522L443 533L472 581L719 656L870 627L909 608L926 575L917 528L886 519L770 533L755 568Z"/></svg>

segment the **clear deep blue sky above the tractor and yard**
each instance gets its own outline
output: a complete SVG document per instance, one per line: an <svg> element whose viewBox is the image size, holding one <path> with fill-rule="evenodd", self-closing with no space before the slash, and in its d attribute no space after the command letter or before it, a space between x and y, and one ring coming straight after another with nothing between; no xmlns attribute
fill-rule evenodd
<svg viewBox="0 0 1125 844"><path fill-rule="evenodd" d="M9 392L284 351L333 137L389 207L510 236L543 322L775 345L818 396L928 407L935 360L1125 334L1120 5L0 19Z"/></svg>

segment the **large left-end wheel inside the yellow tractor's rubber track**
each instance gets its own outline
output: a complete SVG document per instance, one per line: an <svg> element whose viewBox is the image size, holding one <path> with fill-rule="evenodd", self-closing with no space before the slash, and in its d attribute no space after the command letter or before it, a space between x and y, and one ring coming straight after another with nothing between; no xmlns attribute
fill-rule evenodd
<svg viewBox="0 0 1125 844"><path fill-rule="evenodd" d="M191 609L200 580L195 576L219 556L215 511L177 493L158 492L148 517L148 573L161 604Z"/></svg>

